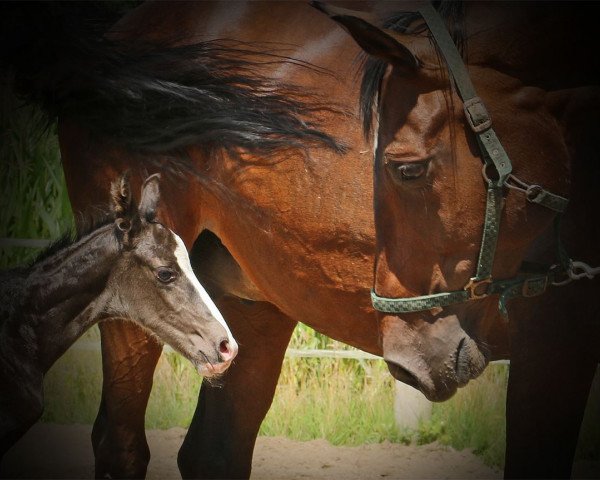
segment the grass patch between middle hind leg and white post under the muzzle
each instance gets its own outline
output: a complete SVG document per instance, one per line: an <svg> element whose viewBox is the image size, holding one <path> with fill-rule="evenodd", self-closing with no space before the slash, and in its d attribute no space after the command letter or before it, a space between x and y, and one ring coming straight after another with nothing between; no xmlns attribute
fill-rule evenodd
<svg viewBox="0 0 600 480"><path fill-rule="evenodd" d="M287 358L261 435L334 445L400 441L394 388L381 361Z"/></svg>

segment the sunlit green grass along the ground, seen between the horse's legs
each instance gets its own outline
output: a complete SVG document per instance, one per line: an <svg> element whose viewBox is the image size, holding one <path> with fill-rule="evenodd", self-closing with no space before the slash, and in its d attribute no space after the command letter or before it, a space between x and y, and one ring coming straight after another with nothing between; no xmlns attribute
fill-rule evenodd
<svg viewBox="0 0 600 480"><path fill-rule="evenodd" d="M292 345L300 347L309 331L300 326ZM339 346L312 333L309 343L314 342ZM325 438L334 445L349 446L439 441L457 449L470 448L488 465L502 466L506 379L505 366L488 368L451 400L435 404L431 420L410 432L396 426L394 382L383 361L289 357L260 435L295 440ZM163 354L154 375L146 427L187 427L200 380L187 360L178 354ZM46 376L42 421L92 423L101 384L100 352L68 351Z"/></svg>

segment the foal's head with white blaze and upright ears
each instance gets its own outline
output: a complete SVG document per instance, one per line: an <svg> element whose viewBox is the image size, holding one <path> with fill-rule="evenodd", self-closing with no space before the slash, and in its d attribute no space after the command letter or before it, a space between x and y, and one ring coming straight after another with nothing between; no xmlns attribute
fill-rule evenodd
<svg viewBox="0 0 600 480"><path fill-rule="evenodd" d="M205 376L224 372L238 346L223 316L192 271L181 238L155 221L158 174L146 179L139 207L126 175L111 186L121 254L108 289L109 314L157 334Z"/></svg>

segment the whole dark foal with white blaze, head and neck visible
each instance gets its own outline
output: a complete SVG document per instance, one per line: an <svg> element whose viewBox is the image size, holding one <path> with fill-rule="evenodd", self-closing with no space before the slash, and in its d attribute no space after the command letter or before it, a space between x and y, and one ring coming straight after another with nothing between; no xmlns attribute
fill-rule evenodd
<svg viewBox="0 0 600 480"><path fill-rule="evenodd" d="M159 178L146 179L138 208L121 177L111 186L113 218L0 275L0 459L42 414L44 374L103 318L140 324L202 375L222 373L236 355L183 241L155 221Z"/></svg>

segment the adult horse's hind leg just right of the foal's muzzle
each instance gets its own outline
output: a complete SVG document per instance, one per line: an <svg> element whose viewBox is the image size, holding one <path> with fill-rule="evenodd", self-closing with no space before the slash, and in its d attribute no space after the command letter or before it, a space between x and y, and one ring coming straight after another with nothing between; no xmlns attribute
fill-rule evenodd
<svg viewBox="0 0 600 480"><path fill-rule="evenodd" d="M220 380L204 382L179 450L184 478L248 478L258 429L275 393L285 349L296 323L273 305L218 303L240 349Z"/></svg>

